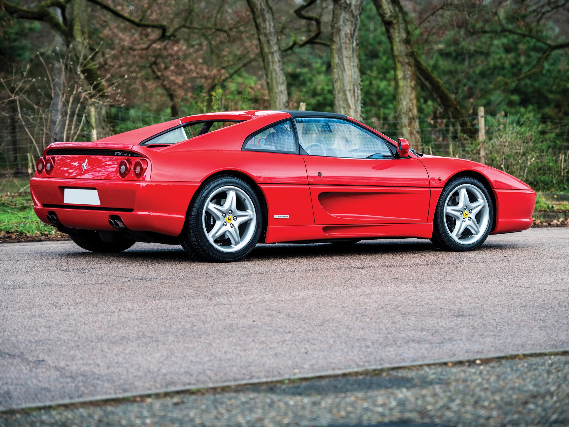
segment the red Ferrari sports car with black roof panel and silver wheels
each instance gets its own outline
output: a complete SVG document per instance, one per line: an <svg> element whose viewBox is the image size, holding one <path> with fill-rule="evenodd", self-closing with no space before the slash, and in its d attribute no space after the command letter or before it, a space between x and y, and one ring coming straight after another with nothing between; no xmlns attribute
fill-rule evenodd
<svg viewBox="0 0 569 427"><path fill-rule="evenodd" d="M535 192L500 170L416 153L351 117L198 114L47 147L34 210L81 248L181 244L237 261L257 243L419 237L470 251L531 226Z"/></svg>

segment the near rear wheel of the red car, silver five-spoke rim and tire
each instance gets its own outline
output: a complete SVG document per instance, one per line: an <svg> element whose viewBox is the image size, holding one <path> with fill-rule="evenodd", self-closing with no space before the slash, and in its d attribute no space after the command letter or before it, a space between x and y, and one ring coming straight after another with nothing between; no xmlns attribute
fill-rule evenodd
<svg viewBox="0 0 569 427"><path fill-rule="evenodd" d="M235 176L217 176L196 192L180 244L199 260L238 261L257 244L262 224L261 204L253 188Z"/></svg>

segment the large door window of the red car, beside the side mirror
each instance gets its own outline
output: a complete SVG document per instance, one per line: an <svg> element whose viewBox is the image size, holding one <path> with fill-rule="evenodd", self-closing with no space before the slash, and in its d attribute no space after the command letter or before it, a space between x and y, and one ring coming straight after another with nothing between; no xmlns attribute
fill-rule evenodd
<svg viewBox="0 0 569 427"><path fill-rule="evenodd" d="M360 159L391 159L387 141L346 120L295 119L300 146L310 155Z"/></svg>

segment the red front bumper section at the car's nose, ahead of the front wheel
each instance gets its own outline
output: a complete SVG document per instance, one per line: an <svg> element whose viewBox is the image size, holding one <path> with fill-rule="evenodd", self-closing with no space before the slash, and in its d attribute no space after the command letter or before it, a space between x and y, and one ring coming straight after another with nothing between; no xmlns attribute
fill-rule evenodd
<svg viewBox="0 0 569 427"><path fill-rule="evenodd" d="M535 208L533 190L494 190L496 227L490 234L512 233L531 227Z"/></svg>

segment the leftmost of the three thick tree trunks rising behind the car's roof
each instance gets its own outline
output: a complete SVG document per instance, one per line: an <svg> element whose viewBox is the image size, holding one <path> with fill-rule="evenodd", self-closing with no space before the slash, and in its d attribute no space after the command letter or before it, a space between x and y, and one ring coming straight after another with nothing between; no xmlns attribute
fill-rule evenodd
<svg viewBox="0 0 569 427"><path fill-rule="evenodd" d="M281 49L275 30L275 15L269 0L247 0L261 48L261 58L267 87L269 88L269 101L271 109L288 109L288 95L286 79L284 78Z"/></svg>

